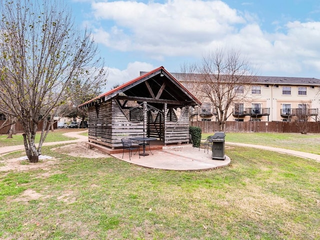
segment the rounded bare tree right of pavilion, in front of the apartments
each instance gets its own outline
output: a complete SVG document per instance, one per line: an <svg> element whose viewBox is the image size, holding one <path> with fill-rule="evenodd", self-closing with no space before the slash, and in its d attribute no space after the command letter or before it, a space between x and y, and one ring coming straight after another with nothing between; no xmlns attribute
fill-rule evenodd
<svg viewBox="0 0 320 240"><path fill-rule="evenodd" d="M252 74L248 61L234 49L209 52L196 67L192 64L189 69L189 73L197 72L191 81L192 93L199 100L206 99L213 105L222 131L225 121L232 114L228 110L235 103L249 98L249 86L255 79L255 74Z"/></svg>

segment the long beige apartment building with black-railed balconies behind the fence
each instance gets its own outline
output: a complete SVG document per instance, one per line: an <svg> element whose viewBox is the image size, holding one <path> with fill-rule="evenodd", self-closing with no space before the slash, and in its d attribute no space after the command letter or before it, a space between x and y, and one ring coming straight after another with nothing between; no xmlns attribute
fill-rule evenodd
<svg viewBox="0 0 320 240"><path fill-rule="evenodd" d="M188 88L185 80L188 77L181 77L181 73L172 75ZM193 93L192 89L189 90ZM308 121L320 120L320 79L256 76L250 85L238 86L234 90L247 97L241 102L233 102L228 110L228 121L292 121L301 117ZM200 100L202 106L194 109L192 120L214 121L214 107L209 100Z"/></svg>

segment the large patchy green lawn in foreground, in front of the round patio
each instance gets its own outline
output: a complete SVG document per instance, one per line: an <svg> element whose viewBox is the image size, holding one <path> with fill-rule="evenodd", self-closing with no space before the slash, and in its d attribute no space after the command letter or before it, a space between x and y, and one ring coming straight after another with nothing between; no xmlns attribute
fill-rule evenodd
<svg viewBox="0 0 320 240"><path fill-rule="evenodd" d="M232 146L228 167L168 171L43 153L55 162L0 174L1 239L320 239L319 162Z"/></svg>

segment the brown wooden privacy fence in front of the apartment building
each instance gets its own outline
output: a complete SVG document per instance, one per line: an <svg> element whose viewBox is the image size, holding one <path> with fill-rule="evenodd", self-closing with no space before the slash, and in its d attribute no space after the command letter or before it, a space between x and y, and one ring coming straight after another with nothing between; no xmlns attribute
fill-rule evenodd
<svg viewBox="0 0 320 240"><path fill-rule="evenodd" d="M219 131L217 121L190 121L190 126L199 126L203 133ZM298 124L307 124L303 129L309 133L320 132L320 122L294 121L227 121L225 132L300 132Z"/></svg>

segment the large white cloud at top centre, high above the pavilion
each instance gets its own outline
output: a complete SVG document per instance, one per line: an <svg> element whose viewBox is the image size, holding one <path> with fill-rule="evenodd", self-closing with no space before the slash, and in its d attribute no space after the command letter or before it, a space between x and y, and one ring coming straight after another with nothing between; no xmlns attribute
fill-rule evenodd
<svg viewBox="0 0 320 240"><path fill-rule="evenodd" d="M188 55L212 39L244 23L236 10L222 1L170 0L163 4L136 1L92 3L97 20L114 22L96 27L99 42L117 50L138 50L161 55Z"/></svg>

